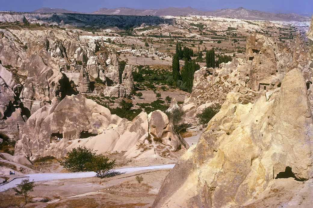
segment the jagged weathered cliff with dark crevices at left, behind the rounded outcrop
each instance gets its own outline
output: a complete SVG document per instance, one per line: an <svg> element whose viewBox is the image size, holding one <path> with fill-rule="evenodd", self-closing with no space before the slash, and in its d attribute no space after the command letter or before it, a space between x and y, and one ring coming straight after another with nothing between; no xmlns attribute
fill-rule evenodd
<svg viewBox="0 0 313 208"><path fill-rule="evenodd" d="M47 27L0 29L0 131L17 140L31 114L67 95L128 96L133 68L127 65L121 72L104 41ZM95 90L95 82L101 90Z"/></svg>

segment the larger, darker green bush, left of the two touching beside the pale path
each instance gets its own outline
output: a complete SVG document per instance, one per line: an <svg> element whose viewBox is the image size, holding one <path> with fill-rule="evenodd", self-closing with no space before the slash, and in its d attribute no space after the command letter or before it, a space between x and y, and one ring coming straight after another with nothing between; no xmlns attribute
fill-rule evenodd
<svg viewBox="0 0 313 208"><path fill-rule="evenodd" d="M91 171L87 163L91 162L95 155L96 151L79 146L66 153L60 164L72 172Z"/></svg>

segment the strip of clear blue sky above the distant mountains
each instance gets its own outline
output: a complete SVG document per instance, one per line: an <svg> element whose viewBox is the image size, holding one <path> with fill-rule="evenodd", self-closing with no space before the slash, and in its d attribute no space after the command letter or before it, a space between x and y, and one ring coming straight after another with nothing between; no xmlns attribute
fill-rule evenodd
<svg viewBox="0 0 313 208"><path fill-rule="evenodd" d="M191 6L199 10L245 7L268 12L313 13L313 0L0 0L0 10L33 11L40 7L93 12L101 7L159 9Z"/></svg>

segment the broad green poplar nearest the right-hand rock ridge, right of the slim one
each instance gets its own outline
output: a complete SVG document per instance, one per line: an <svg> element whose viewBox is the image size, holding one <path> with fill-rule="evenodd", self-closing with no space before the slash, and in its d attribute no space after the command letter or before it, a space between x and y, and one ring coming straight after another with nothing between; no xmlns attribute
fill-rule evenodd
<svg viewBox="0 0 313 208"><path fill-rule="evenodd" d="M185 66L182 68L181 76L182 82L184 83L187 92L191 93L194 73L199 69L199 64L197 64L194 60L189 62L187 59L185 59Z"/></svg>

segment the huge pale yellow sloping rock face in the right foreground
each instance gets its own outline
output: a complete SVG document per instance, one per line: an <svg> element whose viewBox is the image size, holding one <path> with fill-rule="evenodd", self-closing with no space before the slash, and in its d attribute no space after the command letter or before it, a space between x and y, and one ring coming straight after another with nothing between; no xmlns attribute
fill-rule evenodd
<svg viewBox="0 0 313 208"><path fill-rule="evenodd" d="M240 206L290 167L313 178L313 119L303 72L293 69L269 99L229 92L197 146L165 179L153 207Z"/></svg>

